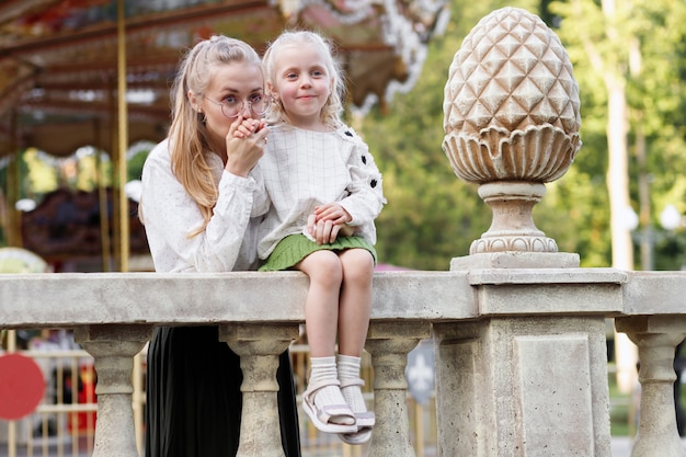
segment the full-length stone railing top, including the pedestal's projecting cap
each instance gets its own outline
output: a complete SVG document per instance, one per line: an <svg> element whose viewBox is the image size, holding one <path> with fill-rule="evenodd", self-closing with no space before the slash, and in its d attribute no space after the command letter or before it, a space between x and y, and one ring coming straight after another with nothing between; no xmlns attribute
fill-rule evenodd
<svg viewBox="0 0 686 457"><path fill-rule="evenodd" d="M0 327L302 322L299 272L0 275ZM683 312L686 272L478 269L379 272L371 320Z"/></svg>

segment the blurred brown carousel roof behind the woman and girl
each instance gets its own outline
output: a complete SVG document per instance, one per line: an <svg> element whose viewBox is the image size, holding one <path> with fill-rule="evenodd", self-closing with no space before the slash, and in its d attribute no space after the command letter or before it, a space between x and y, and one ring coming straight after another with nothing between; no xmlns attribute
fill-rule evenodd
<svg viewBox="0 0 686 457"><path fill-rule="evenodd" d="M179 58L202 37L226 34L261 53L284 28L319 30L339 48L352 104L364 107L412 85L447 18L446 0L118 1L0 3L0 158L25 147L111 149L121 31L133 144L164 137Z"/></svg>

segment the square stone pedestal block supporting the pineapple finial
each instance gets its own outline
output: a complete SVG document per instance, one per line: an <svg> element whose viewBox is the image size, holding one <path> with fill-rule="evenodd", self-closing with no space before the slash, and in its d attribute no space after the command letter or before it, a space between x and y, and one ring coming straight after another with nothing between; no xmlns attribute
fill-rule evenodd
<svg viewBox="0 0 686 457"><path fill-rule="evenodd" d="M433 328L441 455L609 456L605 315L621 310L626 273L553 267L573 256L552 253L488 269L505 253L484 255L455 262L479 318Z"/></svg>

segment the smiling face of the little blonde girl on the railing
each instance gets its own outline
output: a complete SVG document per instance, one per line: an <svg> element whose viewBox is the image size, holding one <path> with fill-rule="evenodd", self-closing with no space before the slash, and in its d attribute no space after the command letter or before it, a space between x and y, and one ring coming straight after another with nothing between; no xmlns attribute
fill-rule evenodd
<svg viewBox="0 0 686 457"><path fill-rule="evenodd" d="M296 127L322 129L321 108L333 87L324 56L315 45L288 45L274 56L274 81L268 84Z"/></svg>

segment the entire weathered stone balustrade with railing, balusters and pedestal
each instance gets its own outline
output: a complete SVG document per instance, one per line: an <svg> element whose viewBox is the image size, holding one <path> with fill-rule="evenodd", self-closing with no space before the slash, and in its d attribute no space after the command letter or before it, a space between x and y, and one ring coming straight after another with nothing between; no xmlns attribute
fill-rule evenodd
<svg viewBox="0 0 686 457"><path fill-rule="evenodd" d="M531 255L565 254L490 260L507 266ZM73 328L98 372L93 456L134 457L134 355L153 325L218 324L244 372L239 457L282 457L274 377L277 355L304 321L306 290L307 278L296 272L5 274L0 328ZM609 456L604 321L615 317L640 355L632 456L684 456L672 364L686 335L685 296L681 272L454 265L377 273L366 346L377 414L368 455L414 457L404 366L408 353L431 336L439 455Z"/></svg>

